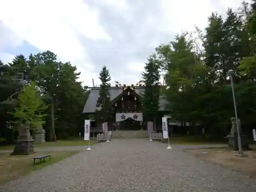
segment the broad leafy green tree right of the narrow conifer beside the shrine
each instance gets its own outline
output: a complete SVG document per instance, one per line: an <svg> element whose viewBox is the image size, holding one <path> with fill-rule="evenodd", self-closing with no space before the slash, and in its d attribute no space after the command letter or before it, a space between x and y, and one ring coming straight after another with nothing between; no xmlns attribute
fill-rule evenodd
<svg viewBox="0 0 256 192"><path fill-rule="evenodd" d="M170 116L181 121L182 125L188 121L195 125L202 121L209 98L209 69L202 62L202 51L198 51L195 42L198 39L190 38L188 34L176 36L174 41L159 46L156 51L165 72L166 87L162 93L169 101Z"/></svg>

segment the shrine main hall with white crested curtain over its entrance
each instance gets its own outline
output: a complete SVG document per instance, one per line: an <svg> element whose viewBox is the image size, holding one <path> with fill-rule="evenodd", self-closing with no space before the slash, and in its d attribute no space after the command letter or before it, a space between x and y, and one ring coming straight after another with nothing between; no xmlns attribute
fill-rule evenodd
<svg viewBox="0 0 256 192"><path fill-rule="evenodd" d="M117 81L116 81L117 82ZM90 95L84 105L83 113L86 118L91 119L91 128L102 127L102 122L95 119L100 87L91 87ZM143 118L141 97L144 86L139 82L137 84L121 85L117 83L115 87L109 88L114 117L108 122L109 131L115 130L145 130L146 122ZM162 116L166 114L166 100L164 96L159 97L159 114L156 118L156 129L162 129ZM153 121L153 119L152 119ZM155 131L157 131L155 130Z"/></svg>

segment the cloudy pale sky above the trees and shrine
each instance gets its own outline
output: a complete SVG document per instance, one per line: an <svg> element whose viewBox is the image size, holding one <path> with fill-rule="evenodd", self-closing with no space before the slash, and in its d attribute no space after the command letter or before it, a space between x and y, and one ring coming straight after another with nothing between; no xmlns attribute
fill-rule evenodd
<svg viewBox="0 0 256 192"><path fill-rule="evenodd" d="M246 2L250 2L247 0ZM50 50L81 72L84 86L99 86L105 65L114 81L141 80L146 59L160 44L195 26L211 12L225 16L242 0L1 0L0 59Z"/></svg>

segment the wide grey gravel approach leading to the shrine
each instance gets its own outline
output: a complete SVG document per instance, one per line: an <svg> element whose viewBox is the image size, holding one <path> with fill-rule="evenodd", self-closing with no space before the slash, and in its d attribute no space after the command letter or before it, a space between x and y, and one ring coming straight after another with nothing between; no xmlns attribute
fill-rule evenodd
<svg viewBox="0 0 256 192"><path fill-rule="evenodd" d="M0 191L256 191L256 180L199 160L184 153L185 147L167 150L157 141L115 139L7 183Z"/></svg>

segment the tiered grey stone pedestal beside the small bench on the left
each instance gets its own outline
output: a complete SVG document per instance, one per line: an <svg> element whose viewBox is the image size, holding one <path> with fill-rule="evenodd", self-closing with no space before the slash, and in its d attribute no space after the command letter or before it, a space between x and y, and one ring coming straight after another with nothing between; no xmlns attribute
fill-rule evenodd
<svg viewBox="0 0 256 192"><path fill-rule="evenodd" d="M20 125L17 144L11 155L29 155L34 152L34 140L29 132L29 124Z"/></svg>

